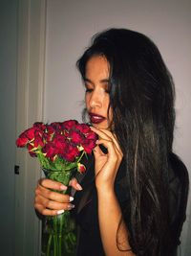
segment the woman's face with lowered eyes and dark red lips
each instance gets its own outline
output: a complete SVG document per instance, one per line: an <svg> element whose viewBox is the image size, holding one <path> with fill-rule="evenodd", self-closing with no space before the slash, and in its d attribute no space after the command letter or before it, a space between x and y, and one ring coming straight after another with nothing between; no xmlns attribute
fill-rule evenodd
<svg viewBox="0 0 191 256"><path fill-rule="evenodd" d="M109 95L109 63L106 58L95 56L88 60L84 79L85 102L90 121L95 128L109 128L112 109Z"/></svg>

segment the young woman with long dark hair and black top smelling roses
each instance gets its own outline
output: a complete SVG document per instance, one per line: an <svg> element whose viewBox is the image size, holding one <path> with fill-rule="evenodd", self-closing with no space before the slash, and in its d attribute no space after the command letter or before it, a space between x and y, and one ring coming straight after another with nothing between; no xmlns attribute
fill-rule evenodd
<svg viewBox="0 0 191 256"><path fill-rule="evenodd" d="M188 175L172 152L174 84L156 45L145 35L110 29L96 35L77 61L85 113L98 135L73 198L43 179L35 209L74 211L79 256L171 256L180 244ZM75 206L75 207L74 207Z"/></svg>

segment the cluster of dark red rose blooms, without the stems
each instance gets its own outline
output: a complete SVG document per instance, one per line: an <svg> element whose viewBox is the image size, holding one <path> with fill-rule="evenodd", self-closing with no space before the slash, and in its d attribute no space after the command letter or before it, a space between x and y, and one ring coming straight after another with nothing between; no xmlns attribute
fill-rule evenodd
<svg viewBox="0 0 191 256"><path fill-rule="evenodd" d="M51 162L56 157L63 161L74 162L82 150L91 153L96 147L96 138L96 133L89 126L79 124L76 120L53 122L51 125L36 122L32 128L20 134L16 146L27 146L32 156L41 153L41 164L48 161L52 165ZM85 172L85 167L79 164L78 171Z"/></svg>

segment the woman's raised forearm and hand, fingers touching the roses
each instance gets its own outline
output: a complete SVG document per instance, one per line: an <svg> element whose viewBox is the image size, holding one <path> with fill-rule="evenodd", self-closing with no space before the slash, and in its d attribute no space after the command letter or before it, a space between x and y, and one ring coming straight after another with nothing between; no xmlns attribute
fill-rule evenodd
<svg viewBox="0 0 191 256"><path fill-rule="evenodd" d="M95 148L96 190L98 202L98 222L101 241L105 255L134 255L130 249L128 231L121 219L122 213L114 191L114 183L118 167L123 154L117 143L115 134L103 128L92 128L99 139ZM103 153L98 145L107 148L108 153ZM112 223L112 224L111 224ZM119 224L120 223L120 224ZM117 246L124 250L119 250Z"/></svg>

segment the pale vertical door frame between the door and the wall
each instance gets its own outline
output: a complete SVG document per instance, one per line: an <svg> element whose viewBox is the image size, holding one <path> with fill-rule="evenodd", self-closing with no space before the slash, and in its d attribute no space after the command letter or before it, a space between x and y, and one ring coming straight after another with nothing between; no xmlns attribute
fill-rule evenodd
<svg viewBox="0 0 191 256"><path fill-rule="evenodd" d="M19 0L17 45L16 136L43 121L46 51L46 0ZM41 176L35 158L16 149L14 256L37 256L41 224L33 208L34 189Z"/></svg>

